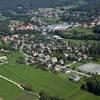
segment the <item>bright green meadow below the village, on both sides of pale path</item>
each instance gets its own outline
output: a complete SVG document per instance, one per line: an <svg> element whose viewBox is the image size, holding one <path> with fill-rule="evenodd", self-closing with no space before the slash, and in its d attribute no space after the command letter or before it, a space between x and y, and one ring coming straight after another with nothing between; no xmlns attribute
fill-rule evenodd
<svg viewBox="0 0 100 100"><path fill-rule="evenodd" d="M69 81L67 75L54 75L50 71L16 64L19 56L19 54L9 55L9 64L0 66L0 74L19 83L31 84L33 91L37 93L44 90L50 95L63 97L65 100L100 100L100 97L80 90L79 84ZM23 95L23 92L0 79L0 97L5 100L16 100L14 98L19 95Z"/></svg>

